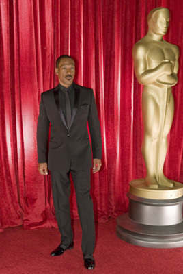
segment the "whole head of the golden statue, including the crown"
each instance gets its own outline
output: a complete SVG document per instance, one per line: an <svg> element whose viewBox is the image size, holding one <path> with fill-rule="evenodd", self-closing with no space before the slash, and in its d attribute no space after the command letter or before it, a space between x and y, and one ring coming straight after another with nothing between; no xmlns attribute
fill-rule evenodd
<svg viewBox="0 0 183 274"><path fill-rule="evenodd" d="M149 30L157 35L167 33L169 27L169 9L154 8L148 15Z"/></svg>

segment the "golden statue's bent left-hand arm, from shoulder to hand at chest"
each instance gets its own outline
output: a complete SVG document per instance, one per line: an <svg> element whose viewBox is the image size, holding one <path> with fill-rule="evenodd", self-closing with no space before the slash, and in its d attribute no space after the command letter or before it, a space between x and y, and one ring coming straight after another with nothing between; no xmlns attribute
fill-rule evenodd
<svg viewBox="0 0 183 274"><path fill-rule="evenodd" d="M170 75L172 73L172 64L169 61L163 61L154 69L147 69L147 54L149 49L148 43L143 44L137 43L134 45L132 56L137 81L142 85L148 85L153 84L162 75Z"/></svg>

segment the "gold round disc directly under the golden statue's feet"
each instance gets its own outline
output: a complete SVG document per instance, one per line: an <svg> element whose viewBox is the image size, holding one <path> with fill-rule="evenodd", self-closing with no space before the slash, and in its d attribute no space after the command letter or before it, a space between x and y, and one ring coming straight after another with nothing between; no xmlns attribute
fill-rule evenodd
<svg viewBox="0 0 183 274"><path fill-rule="evenodd" d="M145 185L144 179L135 179L130 182L130 193L145 199L168 200L182 197L183 184L180 182L173 182L175 183L173 188L159 186L158 189L152 189Z"/></svg>

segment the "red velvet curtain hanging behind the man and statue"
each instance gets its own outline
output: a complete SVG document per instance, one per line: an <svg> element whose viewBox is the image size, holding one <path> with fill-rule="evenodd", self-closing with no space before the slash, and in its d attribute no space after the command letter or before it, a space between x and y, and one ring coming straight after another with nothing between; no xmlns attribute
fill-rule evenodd
<svg viewBox="0 0 183 274"><path fill-rule="evenodd" d="M179 82L165 174L183 182L182 34L180 0L0 0L1 228L56 226L50 177L38 173L36 125L40 93L57 85L55 60L76 60L75 82L94 89L102 127L102 170L92 175L98 221L128 210L132 179L145 177L141 92L132 46L147 32L147 14L170 10L165 40L180 48ZM71 214L78 218L72 186Z"/></svg>

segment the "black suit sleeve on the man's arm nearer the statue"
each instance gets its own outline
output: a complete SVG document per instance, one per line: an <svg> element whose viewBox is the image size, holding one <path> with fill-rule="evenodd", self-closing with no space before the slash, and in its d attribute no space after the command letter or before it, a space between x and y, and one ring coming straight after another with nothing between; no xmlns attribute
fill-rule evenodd
<svg viewBox="0 0 183 274"><path fill-rule="evenodd" d="M93 158L101 159L102 158L101 129L100 129L100 122L98 120L98 111L96 108L96 102L95 102L93 90L92 90L91 105L89 108L88 125L89 125L91 140L92 140Z"/></svg>

